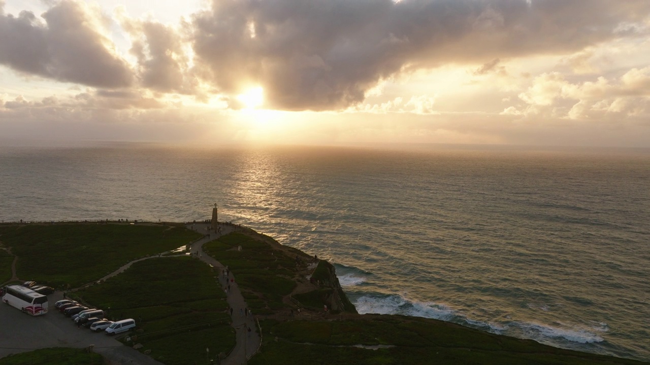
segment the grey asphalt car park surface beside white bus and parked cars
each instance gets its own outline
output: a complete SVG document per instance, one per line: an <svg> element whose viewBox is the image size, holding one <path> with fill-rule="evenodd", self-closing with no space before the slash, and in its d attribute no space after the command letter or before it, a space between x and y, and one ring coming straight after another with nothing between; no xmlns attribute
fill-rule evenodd
<svg viewBox="0 0 650 365"><path fill-rule="evenodd" d="M95 351L106 357L109 364L161 365L103 332L95 333L83 326L77 328L69 317L54 307L60 299L63 299L60 292L47 296L49 308L43 316L30 316L0 303L0 358L46 347L83 348L94 345Z"/></svg>

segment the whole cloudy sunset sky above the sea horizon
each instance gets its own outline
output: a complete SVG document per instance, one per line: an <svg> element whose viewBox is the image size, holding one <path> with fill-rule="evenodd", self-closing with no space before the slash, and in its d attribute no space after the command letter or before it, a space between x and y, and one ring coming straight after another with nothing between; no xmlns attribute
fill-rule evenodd
<svg viewBox="0 0 650 365"><path fill-rule="evenodd" d="M650 1L0 0L16 140L650 147Z"/></svg>

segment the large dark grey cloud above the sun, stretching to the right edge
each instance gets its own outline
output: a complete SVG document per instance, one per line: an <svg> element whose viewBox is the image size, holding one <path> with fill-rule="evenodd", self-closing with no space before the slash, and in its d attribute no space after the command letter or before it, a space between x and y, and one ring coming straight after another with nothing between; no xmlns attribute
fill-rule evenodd
<svg viewBox="0 0 650 365"><path fill-rule="evenodd" d="M261 84L272 107L335 109L405 69L577 51L649 12L647 0L213 0L194 16L195 62L227 94Z"/></svg>

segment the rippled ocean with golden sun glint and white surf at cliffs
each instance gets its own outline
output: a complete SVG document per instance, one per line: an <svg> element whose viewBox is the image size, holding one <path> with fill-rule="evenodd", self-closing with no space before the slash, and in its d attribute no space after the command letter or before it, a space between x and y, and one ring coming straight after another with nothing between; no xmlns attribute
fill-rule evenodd
<svg viewBox="0 0 650 365"><path fill-rule="evenodd" d="M650 151L0 147L0 220L211 217L335 263L361 313L650 361Z"/></svg>

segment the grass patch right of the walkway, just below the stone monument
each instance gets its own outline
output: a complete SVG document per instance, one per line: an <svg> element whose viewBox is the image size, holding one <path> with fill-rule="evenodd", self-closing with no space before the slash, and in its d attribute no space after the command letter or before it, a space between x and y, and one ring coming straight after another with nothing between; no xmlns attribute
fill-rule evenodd
<svg viewBox="0 0 650 365"><path fill-rule="evenodd" d="M241 246L242 251L237 247ZM271 245L242 233L231 233L203 245L205 252L228 266L237 278L248 307L270 314L285 307L282 297L291 293L296 262Z"/></svg>

